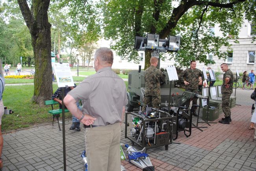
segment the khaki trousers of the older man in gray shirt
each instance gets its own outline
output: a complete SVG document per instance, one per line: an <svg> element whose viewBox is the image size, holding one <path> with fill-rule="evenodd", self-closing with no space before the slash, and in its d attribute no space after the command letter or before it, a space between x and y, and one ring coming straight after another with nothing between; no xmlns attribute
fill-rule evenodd
<svg viewBox="0 0 256 171"><path fill-rule="evenodd" d="M120 123L85 129L88 171L120 171Z"/></svg>

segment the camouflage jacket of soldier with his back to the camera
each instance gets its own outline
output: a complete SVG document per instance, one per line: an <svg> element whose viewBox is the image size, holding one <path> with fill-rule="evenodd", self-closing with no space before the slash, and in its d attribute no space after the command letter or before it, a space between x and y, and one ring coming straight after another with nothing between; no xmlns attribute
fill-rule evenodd
<svg viewBox="0 0 256 171"><path fill-rule="evenodd" d="M145 95L161 95L160 93L160 81L164 81L163 73L160 69L157 69L155 66L150 65L145 72Z"/></svg>

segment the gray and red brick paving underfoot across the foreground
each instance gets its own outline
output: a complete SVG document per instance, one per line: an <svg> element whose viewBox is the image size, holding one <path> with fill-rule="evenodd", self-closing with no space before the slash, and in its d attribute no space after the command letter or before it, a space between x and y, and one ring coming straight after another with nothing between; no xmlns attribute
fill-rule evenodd
<svg viewBox="0 0 256 171"><path fill-rule="evenodd" d="M203 132L193 128L188 138L179 133L175 142L181 144L148 149L152 164L157 171L170 170L256 170L256 140L253 141L254 130L249 130L250 111L253 100L252 90L237 90L237 102L241 106L231 109L232 122L226 124L199 124L208 126ZM219 119L223 117L221 115ZM218 120L219 120L218 119ZM195 120L195 119L194 119ZM218 121L216 120L216 121ZM66 158L68 171L82 171L80 157L84 143L84 129L81 132L70 131L71 121L66 122ZM130 144L124 138L122 126L121 142ZM139 147L135 146L137 149ZM58 125L33 127L4 135L2 152L3 170L19 171L51 171L63 170L62 131ZM141 171L127 161L122 161L128 171Z"/></svg>

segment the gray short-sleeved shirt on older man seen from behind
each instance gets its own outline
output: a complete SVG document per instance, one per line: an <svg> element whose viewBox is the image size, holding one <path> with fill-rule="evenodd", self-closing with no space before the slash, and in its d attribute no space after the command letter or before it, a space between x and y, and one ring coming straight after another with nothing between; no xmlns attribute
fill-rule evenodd
<svg viewBox="0 0 256 171"><path fill-rule="evenodd" d="M122 108L127 103L126 86L111 67L88 76L69 95L76 101L82 99L82 113L96 118L93 125L122 122Z"/></svg>

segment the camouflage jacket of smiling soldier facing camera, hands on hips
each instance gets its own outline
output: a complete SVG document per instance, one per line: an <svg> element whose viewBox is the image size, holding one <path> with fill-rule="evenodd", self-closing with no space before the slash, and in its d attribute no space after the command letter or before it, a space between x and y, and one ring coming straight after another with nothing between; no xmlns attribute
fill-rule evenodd
<svg viewBox="0 0 256 171"><path fill-rule="evenodd" d="M189 85L186 86L187 89L192 89L192 90L198 90L198 84L199 84L199 76L202 76L202 71L200 69L191 69L188 68L185 71L182 71L178 77L179 80L184 82L189 82Z"/></svg>

